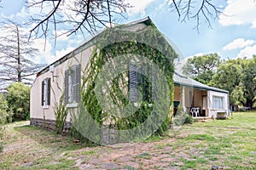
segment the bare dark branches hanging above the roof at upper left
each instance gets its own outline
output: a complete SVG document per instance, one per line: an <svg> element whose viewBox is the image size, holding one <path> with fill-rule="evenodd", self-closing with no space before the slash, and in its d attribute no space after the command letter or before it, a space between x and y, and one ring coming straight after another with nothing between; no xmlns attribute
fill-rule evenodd
<svg viewBox="0 0 256 170"><path fill-rule="evenodd" d="M59 37L58 26L65 26L65 35L84 30L94 34L98 29L113 22L113 14L124 17L125 0L32 0L28 8L41 8L41 14L33 15L30 24L36 24L31 37ZM47 7L47 8L46 8ZM52 36L52 31L54 35Z"/></svg>

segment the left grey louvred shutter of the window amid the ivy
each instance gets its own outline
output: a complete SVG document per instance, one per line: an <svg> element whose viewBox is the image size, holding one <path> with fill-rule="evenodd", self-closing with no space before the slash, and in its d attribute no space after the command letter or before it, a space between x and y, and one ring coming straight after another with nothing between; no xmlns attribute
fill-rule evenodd
<svg viewBox="0 0 256 170"><path fill-rule="evenodd" d="M129 100L137 101L137 65L135 62L129 64Z"/></svg>

